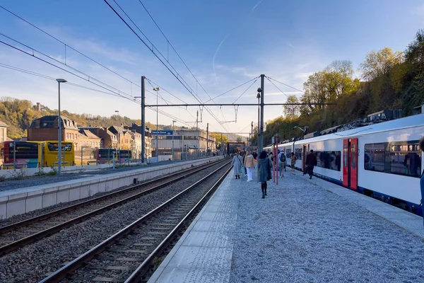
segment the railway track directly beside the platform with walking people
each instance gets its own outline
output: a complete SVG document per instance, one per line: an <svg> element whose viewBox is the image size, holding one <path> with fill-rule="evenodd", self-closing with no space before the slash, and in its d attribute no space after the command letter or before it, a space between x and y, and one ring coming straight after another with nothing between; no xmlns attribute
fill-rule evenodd
<svg viewBox="0 0 424 283"><path fill-rule="evenodd" d="M230 170L230 162L220 166L40 283L141 282Z"/></svg>

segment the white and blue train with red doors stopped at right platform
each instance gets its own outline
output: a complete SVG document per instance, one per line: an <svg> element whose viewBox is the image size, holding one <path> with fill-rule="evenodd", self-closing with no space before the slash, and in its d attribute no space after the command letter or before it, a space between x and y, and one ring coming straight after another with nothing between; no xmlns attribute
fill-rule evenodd
<svg viewBox="0 0 424 283"><path fill-rule="evenodd" d="M424 158L418 146L423 136L424 114L420 114L278 144L278 149L285 152L287 164L294 152L295 168L300 170L313 149L317 177L423 216L420 175Z"/></svg>

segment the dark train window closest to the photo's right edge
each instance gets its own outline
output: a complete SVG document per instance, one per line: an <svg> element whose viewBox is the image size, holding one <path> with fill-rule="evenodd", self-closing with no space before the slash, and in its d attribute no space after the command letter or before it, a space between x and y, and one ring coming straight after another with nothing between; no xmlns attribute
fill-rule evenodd
<svg viewBox="0 0 424 283"><path fill-rule="evenodd" d="M392 142L390 144L390 173L420 177L421 151L418 141Z"/></svg>

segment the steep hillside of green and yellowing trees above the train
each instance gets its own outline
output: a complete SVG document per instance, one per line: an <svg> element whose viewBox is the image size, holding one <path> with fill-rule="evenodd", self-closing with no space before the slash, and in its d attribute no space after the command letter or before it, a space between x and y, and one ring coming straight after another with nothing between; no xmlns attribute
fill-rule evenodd
<svg viewBox="0 0 424 283"><path fill-rule="evenodd" d="M302 96L288 97L288 103L306 105L284 105L284 116L267 122L264 144L271 144L275 134L281 140L300 137L302 132L295 126L315 132L380 110L401 109L404 117L411 115L413 108L424 103L424 30L418 30L404 52L384 47L368 53L358 71L360 80L354 78L350 61L336 60L309 76ZM257 128L253 140L257 141Z"/></svg>

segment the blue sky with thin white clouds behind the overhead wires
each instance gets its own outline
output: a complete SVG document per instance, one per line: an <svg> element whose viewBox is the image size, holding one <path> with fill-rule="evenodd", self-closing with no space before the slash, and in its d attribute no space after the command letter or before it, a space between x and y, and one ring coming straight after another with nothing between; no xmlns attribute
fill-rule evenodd
<svg viewBox="0 0 424 283"><path fill-rule="evenodd" d="M109 3L117 8L113 0ZM156 28L139 0L116 0L141 31L170 60L179 76L196 91L196 81L177 54ZM385 46L403 51L419 28L424 28L424 1L356 0L356 1L283 1L283 0L143 0L163 33L184 59L189 69L211 97L230 90L260 74L302 89L307 76L320 71L336 59L348 59L355 69L370 51ZM131 33L105 1L93 0L4 0L0 5L25 20L54 35L66 45L88 55L114 70L129 81L140 84L145 75L170 93L187 103L196 103L193 96L175 79L163 64ZM120 11L122 13L122 11ZM140 88L51 37L41 33L0 8L0 33L18 40L30 48L64 62L49 62L64 69L70 67L88 74L131 96L140 96ZM28 47L0 35L0 40L32 53ZM65 55L66 49L66 55ZM35 54L38 54L35 52ZM38 55L37 55L38 56ZM42 57L42 55L40 55ZM84 79L52 67L27 54L0 43L0 63L18 67L53 78L63 77L71 83L105 91ZM75 72L75 71L73 71ZM90 79L91 81L93 79ZM259 81L237 100L257 103ZM220 96L216 103L232 103L250 83ZM286 94L300 92L276 83ZM108 88L109 88L108 86ZM197 85L201 100L208 95ZM147 85L149 91L152 86ZM266 80L266 103L284 102L286 97ZM110 116L114 110L134 119L140 117L140 106L124 98L117 98L71 84L61 88L61 108L71 112ZM165 100L179 101L160 91ZM57 83L49 79L23 74L0 67L0 96L28 99L57 109ZM147 103L155 103L155 96L146 93ZM161 99L159 98L159 102ZM176 125L194 121L196 108L163 108L177 118ZM269 107L265 120L282 114L283 108ZM211 107L220 122L234 121L231 107ZM220 123L204 110L202 128L209 122L217 132L249 132L251 121L257 120L257 108L240 107L237 123ZM146 119L155 123L155 112L146 111ZM170 125L172 117L159 115L159 123Z"/></svg>

